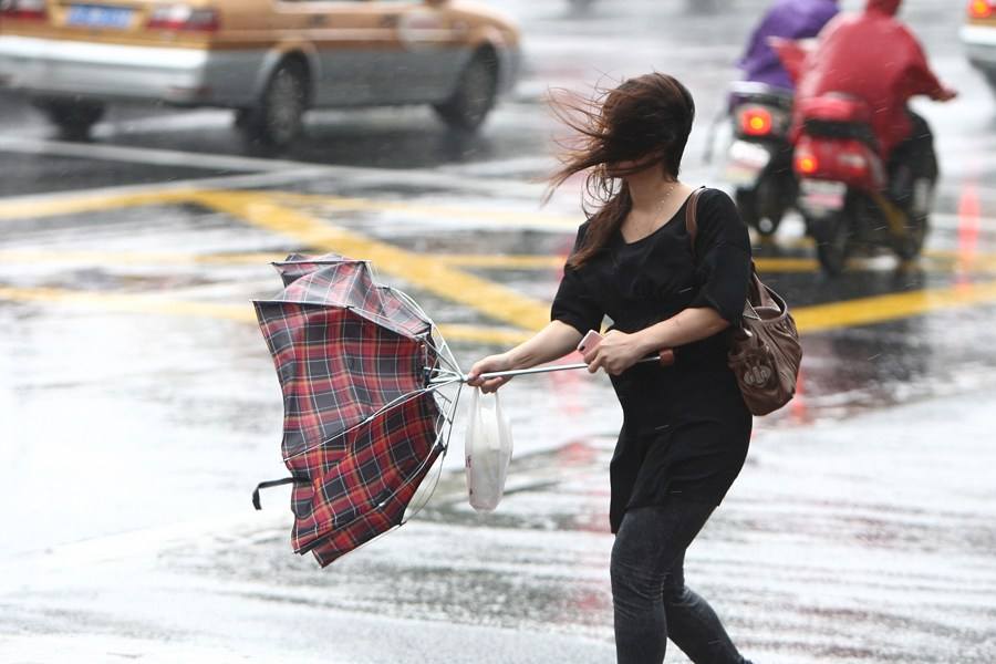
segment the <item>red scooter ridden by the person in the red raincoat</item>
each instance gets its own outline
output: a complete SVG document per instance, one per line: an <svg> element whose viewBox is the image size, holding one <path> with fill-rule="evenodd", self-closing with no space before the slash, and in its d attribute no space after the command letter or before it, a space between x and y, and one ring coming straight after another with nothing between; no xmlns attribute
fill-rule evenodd
<svg viewBox="0 0 996 664"><path fill-rule="evenodd" d="M857 97L813 97L798 113L798 206L824 272L839 274L859 248L886 247L903 260L915 258L927 234L936 168L913 165L890 181L871 110ZM926 158L936 164L933 154Z"/></svg>

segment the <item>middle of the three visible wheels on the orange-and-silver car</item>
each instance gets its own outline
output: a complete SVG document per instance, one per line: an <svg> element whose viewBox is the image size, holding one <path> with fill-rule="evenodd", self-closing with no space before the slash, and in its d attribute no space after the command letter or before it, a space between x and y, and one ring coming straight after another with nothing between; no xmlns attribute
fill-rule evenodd
<svg viewBox="0 0 996 664"><path fill-rule="evenodd" d="M236 112L236 127L250 143L287 147L301 134L308 111L308 69L284 60L273 70L255 107Z"/></svg>

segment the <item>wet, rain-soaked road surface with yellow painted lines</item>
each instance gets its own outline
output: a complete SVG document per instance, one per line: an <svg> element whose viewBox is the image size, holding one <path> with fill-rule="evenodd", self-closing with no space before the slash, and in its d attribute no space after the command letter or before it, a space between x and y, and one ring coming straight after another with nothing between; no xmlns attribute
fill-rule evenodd
<svg viewBox="0 0 996 664"><path fill-rule="evenodd" d="M322 113L266 155L224 113L129 108L69 144L0 97L0 662L613 661L604 376L502 391L517 453L492 515L466 502L459 424L428 507L325 570L290 551L286 491L249 504L284 474L248 304L268 261L372 258L467 366L542 323L578 224L577 185L540 208L531 179L548 86L675 73L701 118L685 179L722 185L705 128L762 2L495 4L528 70L476 138L421 110ZM829 281L798 222L758 247L805 333L802 394L757 421L687 561L757 664L996 661L996 105L961 3L906 4L962 93L916 105L944 170L925 256Z"/></svg>

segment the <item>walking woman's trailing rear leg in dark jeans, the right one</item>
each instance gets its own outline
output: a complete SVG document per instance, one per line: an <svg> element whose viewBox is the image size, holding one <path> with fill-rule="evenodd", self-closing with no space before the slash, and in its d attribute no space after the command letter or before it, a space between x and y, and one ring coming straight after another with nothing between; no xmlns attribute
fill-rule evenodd
<svg viewBox="0 0 996 664"><path fill-rule="evenodd" d="M667 636L695 664L749 664L729 640L708 602L685 585L685 554L664 582Z"/></svg>

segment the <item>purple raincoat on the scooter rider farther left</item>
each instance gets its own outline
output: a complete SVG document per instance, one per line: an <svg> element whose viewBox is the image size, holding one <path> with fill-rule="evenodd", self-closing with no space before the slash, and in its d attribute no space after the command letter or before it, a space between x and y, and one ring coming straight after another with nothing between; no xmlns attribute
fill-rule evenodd
<svg viewBox="0 0 996 664"><path fill-rule="evenodd" d="M793 90L792 80L768 45L768 38L816 37L838 11L837 0L778 0L754 30L747 51L737 63L744 80Z"/></svg>

